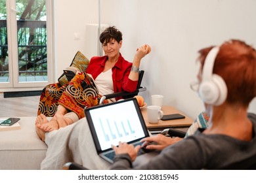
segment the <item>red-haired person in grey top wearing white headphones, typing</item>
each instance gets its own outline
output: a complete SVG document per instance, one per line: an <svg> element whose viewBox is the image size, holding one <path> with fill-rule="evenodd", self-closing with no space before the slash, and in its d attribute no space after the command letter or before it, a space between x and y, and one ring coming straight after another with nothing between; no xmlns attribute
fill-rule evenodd
<svg viewBox="0 0 256 183"><path fill-rule="evenodd" d="M199 53L201 68L193 88L205 103L210 125L135 169L255 169L256 115L247 115L247 109L256 96L256 51L231 40ZM160 137L142 141L158 144ZM133 168L140 146L119 142L113 148L111 169Z"/></svg>

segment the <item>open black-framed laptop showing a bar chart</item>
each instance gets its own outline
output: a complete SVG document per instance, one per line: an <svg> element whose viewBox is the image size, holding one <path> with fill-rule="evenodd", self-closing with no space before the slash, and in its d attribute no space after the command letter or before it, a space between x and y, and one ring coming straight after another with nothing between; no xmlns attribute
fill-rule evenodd
<svg viewBox="0 0 256 183"><path fill-rule="evenodd" d="M137 99L125 99L105 105L85 108L96 152L101 158L113 163L115 156L111 145L121 142L142 144L144 137L149 137L148 129L142 117ZM140 154L144 151L140 149Z"/></svg>

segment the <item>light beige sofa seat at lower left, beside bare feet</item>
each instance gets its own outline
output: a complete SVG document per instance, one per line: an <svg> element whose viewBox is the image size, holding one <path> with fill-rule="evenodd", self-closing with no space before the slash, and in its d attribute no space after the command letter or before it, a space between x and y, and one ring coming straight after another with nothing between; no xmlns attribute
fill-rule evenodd
<svg viewBox="0 0 256 183"><path fill-rule="evenodd" d="M0 131L0 169L40 169L47 145L35 132L36 117L20 117L21 129Z"/></svg>

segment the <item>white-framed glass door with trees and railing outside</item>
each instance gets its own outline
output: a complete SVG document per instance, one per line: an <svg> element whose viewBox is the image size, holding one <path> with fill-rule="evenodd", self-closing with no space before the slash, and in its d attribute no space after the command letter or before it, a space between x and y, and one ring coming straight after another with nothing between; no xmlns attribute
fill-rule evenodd
<svg viewBox="0 0 256 183"><path fill-rule="evenodd" d="M53 82L51 0L0 0L0 88Z"/></svg>

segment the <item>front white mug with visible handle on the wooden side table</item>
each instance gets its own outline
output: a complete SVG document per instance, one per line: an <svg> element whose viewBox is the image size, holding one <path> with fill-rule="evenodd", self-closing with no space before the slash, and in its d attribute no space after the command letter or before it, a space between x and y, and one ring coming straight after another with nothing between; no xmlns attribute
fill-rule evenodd
<svg viewBox="0 0 256 183"><path fill-rule="evenodd" d="M147 107L148 113L148 122L150 124L157 124L158 120L163 117L163 111L161 111L161 107L157 105L150 105Z"/></svg>

